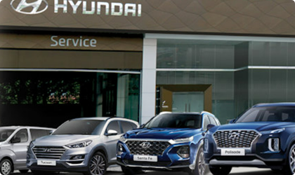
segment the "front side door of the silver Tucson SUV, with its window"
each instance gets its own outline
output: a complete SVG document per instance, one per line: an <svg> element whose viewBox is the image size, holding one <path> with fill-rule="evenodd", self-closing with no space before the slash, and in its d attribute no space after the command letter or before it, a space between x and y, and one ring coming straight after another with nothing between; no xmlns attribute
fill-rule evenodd
<svg viewBox="0 0 295 175"><path fill-rule="evenodd" d="M107 135L110 130L114 130L117 132L115 135ZM105 130L105 144L107 148L107 153L109 155L109 160L116 161L116 153L117 153L117 142L119 141L120 137L122 136L122 130L119 125L118 120L111 121Z"/></svg>

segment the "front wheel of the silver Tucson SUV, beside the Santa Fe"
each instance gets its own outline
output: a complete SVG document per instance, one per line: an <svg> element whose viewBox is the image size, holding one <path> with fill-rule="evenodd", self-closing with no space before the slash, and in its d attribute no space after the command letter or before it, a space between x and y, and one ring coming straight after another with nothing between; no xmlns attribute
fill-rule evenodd
<svg viewBox="0 0 295 175"><path fill-rule="evenodd" d="M107 172L107 159L103 153L97 152L88 162L88 171L84 175L103 175Z"/></svg>

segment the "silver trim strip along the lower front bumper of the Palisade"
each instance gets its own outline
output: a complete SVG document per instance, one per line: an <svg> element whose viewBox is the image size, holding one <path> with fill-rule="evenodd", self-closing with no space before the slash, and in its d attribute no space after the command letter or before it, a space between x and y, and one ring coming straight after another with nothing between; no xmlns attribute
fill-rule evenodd
<svg viewBox="0 0 295 175"><path fill-rule="evenodd" d="M265 162L255 159L255 160L251 160L251 161L245 161L245 160L210 160L209 165L251 165L251 166L255 166L255 165L259 165L259 166L266 166Z"/></svg>

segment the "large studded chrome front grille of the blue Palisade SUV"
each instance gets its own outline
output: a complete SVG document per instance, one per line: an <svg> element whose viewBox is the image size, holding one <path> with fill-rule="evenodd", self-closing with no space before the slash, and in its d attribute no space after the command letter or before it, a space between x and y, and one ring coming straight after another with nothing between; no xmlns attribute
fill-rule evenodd
<svg viewBox="0 0 295 175"><path fill-rule="evenodd" d="M218 148L250 148L258 137L254 130L218 131L214 133L214 139Z"/></svg>

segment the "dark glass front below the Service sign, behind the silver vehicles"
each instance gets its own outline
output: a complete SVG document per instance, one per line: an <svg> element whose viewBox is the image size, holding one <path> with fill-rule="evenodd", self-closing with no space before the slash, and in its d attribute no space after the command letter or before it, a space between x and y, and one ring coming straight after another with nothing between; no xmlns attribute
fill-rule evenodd
<svg viewBox="0 0 295 175"><path fill-rule="evenodd" d="M139 87L140 74L1 71L0 125L58 127L94 116L138 121Z"/></svg>

